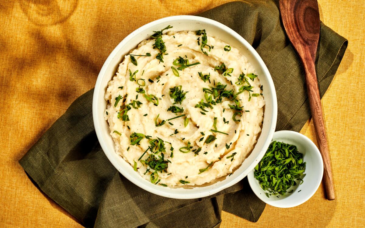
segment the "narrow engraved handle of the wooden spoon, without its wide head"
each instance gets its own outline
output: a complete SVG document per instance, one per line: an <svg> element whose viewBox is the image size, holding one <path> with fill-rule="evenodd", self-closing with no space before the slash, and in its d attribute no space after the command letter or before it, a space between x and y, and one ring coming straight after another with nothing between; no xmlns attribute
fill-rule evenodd
<svg viewBox="0 0 365 228"><path fill-rule="evenodd" d="M320 102L319 89L317 76L315 71L314 61L303 61L304 69L306 72L306 83L308 99L310 103L312 120L314 123L314 129L316 132L316 139L319 147L319 151L323 158L323 179L327 193L328 200L335 199L335 190L333 186L331 162L328 155L326 130L324 128L322 105Z"/></svg>

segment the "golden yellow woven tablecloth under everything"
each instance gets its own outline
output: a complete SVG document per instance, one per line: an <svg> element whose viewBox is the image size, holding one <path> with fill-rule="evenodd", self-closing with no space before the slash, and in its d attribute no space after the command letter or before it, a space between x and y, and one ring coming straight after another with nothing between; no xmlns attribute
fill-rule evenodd
<svg viewBox="0 0 365 228"><path fill-rule="evenodd" d="M1 2L0 227L82 227L31 183L18 160L94 86L105 59L126 35L158 18L193 15L226 2ZM319 8L321 20L349 40L322 99L336 200L327 201L321 185L295 208L266 206L257 223L223 212L222 228L364 227L365 8L362 1L350 0L320 0ZM78 75L81 71L89 77ZM310 121L301 133L315 141Z"/></svg>

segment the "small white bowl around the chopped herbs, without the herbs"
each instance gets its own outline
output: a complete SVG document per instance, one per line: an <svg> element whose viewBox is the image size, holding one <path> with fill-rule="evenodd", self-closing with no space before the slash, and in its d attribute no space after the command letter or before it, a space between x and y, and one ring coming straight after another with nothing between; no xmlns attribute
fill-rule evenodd
<svg viewBox="0 0 365 228"><path fill-rule="evenodd" d="M260 200L266 204L276 206L278 208L291 208L303 204L317 191L323 177L323 160L317 146L307 138L295 131L276 131L273 141L284 142L295 145L298 151L302 153L303 161L306 162L306 170L304 171L303 183L297 182L296 186L292 186L288 191L293 189L292 193L279 197L271 195L266 196L265 191L259 185L257 179L254 178L254 170L252 170L247 178L251 189Z"/></svg>

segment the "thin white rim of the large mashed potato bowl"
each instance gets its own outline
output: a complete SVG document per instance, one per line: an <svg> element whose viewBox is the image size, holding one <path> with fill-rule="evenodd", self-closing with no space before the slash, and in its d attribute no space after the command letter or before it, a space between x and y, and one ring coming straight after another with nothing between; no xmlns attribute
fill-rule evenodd
<svg viewBox="0 0 365 228"><path fill-rule="evenodd" d="M98 96L99 96L99 92L101 89L101 83L102 83L102 79L103 76L106 73L106 70L108 68L108 66L110 65L112 59L116 56L116 54L118 53L118 51L123 47L123 45L125 45L125 43L127 43L127 41L133 39L136 35L139 34L139 32L146 30L149 27L155 26L157 24L160 23L164 23L164 22L169 22L169 21L174 21L174 20L195 20L195 21L200 21L200 22L204 22L207 24L212 24L213 26L219 26L222 28L222 30L226 31L227 33L229 33L230 35L232 35L235 39L237 39L240 43L242 43L243 46L245 46L247 48L247 50L253 55L253 57L257 60L258 64L261 66L262 71L264 72L264 74L267 77L267 82L270 86L270 89L272 90L272 108L273 108L273 113L271 118L272 118L272 122L269 125L269 130L268 130L268 135L267 135L267 139L264 142L263 146L264 148L268 147L271 139L273 137L274 131L275 131L275 127L276 127L276 121L277 121L277 97L276 97L276 90L275 90L275 86L274 86L274 82L272 80L271 74L267 68L267 66L265 65L264 61L262 60L262 58L260 57L260 55L256 52L256 50L250 45L250 43L248 43L241 35L239 35L237 32L235 32L234 30L232 30L231 28L225 26L222 23L219 23L215 20L212 19L208 19L208 18L203 18L200 16L192 16L192 15L177 15L177 16L169 16L169 17L165 17L165 18L161 18L158 20L154 20L150 23L147 23L139 28L137 28L136 30L134 30L133 32L131 32L129 35L127 35L115 48L114 50L110 53L110 55L108 56L108 58L105 60L103 66L101 67L101 70L98 74L97 80L96 80L96 84L95 84L95 88L94 88L94 93L93 93L93 101L92 101L92 116L93 116L93 123L94 123L94 127L95 127L95 132L97 135L98 140L99 139L103 139L103 131L101 130L101 124L99 121L99 114L98 114ZM259 136L260 137L260 136ZM141 182L137 182L135 181L134 177L131 177L128 172L126 170L124 170L117 161L115 161L115 159L112 157L112 155L110 154L111 151L108 150L108 147L106 145L106 143L103 140L99 140L100 146L103 149L105 155L107 156L107 158L109 159L109 161L112 163L112 165L124 176L126 177L129 181L131 181L132 183L134 183L135 185L137 185L138 187L157 194L159 196L164 196L164 197L169 197L169 198L177 198L177 199L192 199L192 198L201 198L201 197L206 197L206 196L210 196L212 194L215 194L223 189L226 189L232 185L234 185L235 183L241 181L244 177L246 177L246 175L257 165L258 162L260 162L260 160L262 159L262 157L264 156L266 150L261 150L257 156L254 159L254 162L251 163L247 169L242 172L240 175L238 175L237 177L231 179L230 181L226 182L223 185L217 186L216 188L214 188L213 190L207 190L205 192L197 192L197 193L189 193L189 194L181 194L181 193L166 193L165 191L161 191L158 188L151 188L151 186L146 185L145 183L141 183ZM115 153L115 151L112 151ZM147 182L146 182L147 183ZM147 183L148 184L148 183ZM192 187L193 188L193 187Z"/></svg>

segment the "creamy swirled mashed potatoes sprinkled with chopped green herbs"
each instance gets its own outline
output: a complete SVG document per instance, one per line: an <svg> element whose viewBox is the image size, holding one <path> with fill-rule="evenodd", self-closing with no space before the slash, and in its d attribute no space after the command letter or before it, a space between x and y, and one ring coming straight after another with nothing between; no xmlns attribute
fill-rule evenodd
<svg viewBox="0 0 365 228"><path fill-rule="evenodd" d="M241 165L265 105L246 57L204 30L160 31L130 54L105 93L116 152L161 186L209 183Z"/></svg>

